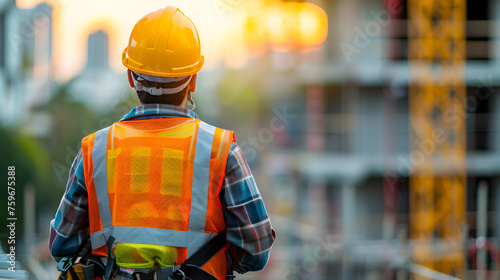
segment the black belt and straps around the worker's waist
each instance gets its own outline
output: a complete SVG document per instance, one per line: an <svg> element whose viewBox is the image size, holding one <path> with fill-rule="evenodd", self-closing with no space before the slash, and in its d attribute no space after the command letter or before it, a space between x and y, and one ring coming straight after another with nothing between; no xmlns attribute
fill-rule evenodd
<svg viewBox="0 0 500 280"><path fill-rule="evenodd" d="M112 251L114 238L111 236L106 242L108 246L108 261L104 280L110 280L118 272L114 254ZM140 280L218 280L212 274L206 272L201 267L217 254L227 244L226 231L221 231L217 236L208 241L201 249L189 257L179 268L163 267L151 269L149 271L134 272L132 279ZM231 256L226 253L228 272L226 279L232 280L236 276L233 274ZM130 277L130 276L129 276Z"/></svg>

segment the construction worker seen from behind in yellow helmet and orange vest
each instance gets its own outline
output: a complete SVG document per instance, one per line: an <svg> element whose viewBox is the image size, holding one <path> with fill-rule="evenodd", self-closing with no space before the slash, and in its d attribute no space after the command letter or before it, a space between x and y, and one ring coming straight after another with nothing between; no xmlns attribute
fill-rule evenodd
<svg viewBox="0 0 500 280"><path fill-rule="evenodd" d="M147 14L122 60L140 106L82 140L51 222L54 259L97 256L105 279L263 269L275 232L245 157L192 111L204 62L193 22L170 6Z"/></svg>

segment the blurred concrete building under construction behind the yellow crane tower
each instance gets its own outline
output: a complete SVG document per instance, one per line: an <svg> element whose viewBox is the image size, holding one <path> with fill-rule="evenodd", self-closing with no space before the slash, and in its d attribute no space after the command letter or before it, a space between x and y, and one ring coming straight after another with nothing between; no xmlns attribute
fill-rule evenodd
<svg viewBox="0 0 500 280"><path fill-rule="evenodd" d="M409 242L414 164L407 3L312 2L329 16L326 44L305 53L267 50L263 57L273 68L265 70L263 95L274 107L264 119L290 116L282 122L285 129L260 123L251 136L256 140L247 141L247 154L260 151L260 171L268 174L263 184L272 186L263 193L272 197L268 208L276 215L278 242L291 245L277 246L275 261L288 262L285 271L297 279L300 273L310 279L395 279L389 267L405 258L397 242ZM500 1L467 1L467 114L449 123L467 127L467 246L483 236L500 247L499 17ZM256 67L250 60L244 69ZM421 145L425 152L427 144ZM342 250L311 264L317 239L331 236ZM484 260L496 267L493 258ZM464 256L467 269L473 261Z"/></svg>

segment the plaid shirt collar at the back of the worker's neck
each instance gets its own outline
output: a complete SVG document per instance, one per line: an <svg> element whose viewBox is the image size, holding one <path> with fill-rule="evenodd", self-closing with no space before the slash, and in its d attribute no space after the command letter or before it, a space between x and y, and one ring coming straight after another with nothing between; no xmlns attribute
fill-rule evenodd
<svg viewBox="0 0 500 280"><path fill-rule="evenodd" d="M145 104L137 106L130 110L128 114L123 116L120 121L130 119L153 119L158 118L160 115L177 118L194 118L199 119L198 115L184 107L168 105L168 104Z"/></svg>

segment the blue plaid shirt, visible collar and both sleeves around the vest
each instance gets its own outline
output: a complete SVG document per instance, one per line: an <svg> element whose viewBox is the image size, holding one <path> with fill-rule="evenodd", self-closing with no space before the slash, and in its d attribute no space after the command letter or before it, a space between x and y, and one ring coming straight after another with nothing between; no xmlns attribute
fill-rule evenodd
<svg viewBox="0 0 500 280"><path fill-rule="evenodd" d="M178 106L148 104L132 109L120 121L172 117L198 118L198 115ZM219 197L226 220L227 241L234 248L234 269L240 273L263 269L276 234L250 168L235 142L230 146ZM77 255L83 248L90 247L87 209L87 188L80 150L71 166L66 192L55 219L50 223L49 249L55 260Z"/></svg>

